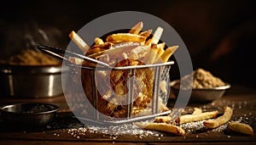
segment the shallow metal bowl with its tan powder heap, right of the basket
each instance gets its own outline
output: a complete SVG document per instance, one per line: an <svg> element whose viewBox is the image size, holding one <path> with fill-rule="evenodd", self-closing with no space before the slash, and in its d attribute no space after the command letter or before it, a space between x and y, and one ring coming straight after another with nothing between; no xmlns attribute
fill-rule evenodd
<svg viewBox="0 0 256 145"><path fill-rule="evenodd" d="M181 80L172 81L170 85L175 96L180 91L186 92L192 89L189 101L193 103L211 102L222 98L230 88L229 83L201 68L194 70L192 74L184 75Z"/></svg>

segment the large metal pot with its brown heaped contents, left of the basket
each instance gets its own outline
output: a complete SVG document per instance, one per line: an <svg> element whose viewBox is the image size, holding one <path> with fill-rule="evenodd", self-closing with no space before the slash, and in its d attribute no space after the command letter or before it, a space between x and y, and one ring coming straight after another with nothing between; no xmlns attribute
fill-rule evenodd
<svg viewBox="0 0 256 145"><path fill-rule="evenodd" d="M50 98L63 94L61 60L36 49L24 49L0 60L3 97ZM63 72L63 73L62 73Z"/></svg>

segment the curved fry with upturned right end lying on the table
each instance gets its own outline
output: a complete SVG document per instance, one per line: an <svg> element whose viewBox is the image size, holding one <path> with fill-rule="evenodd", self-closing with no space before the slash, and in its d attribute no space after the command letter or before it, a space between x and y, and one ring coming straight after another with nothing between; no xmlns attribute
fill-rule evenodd
<svg viewBox="0 0 256 145"><path fill-rule="evenodd" d="M224 125L227 123L233 115L233 109L231 109L229 106L225 107L224 114L219 116L215 120L206 120L204 121L204 125L207 128L217 128L220 125Z"/></svg>

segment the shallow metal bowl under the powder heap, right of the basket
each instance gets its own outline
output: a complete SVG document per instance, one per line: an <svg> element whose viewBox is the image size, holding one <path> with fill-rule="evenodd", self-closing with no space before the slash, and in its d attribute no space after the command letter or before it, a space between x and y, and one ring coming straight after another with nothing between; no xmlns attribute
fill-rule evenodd
<svg viewBox="0 0 256 145"><path fill-rule="evenodd" d="M177 96L178 92L186 91L180 89L180 81L172 81L170 83L171 91ZM229 83L225 83L225 86L218 86L212 88L197 88L192 89L191 96L189 98L190 102L201 103L201 102L211 102L217 100L224 96L224 92L230 88Z"/></svg>

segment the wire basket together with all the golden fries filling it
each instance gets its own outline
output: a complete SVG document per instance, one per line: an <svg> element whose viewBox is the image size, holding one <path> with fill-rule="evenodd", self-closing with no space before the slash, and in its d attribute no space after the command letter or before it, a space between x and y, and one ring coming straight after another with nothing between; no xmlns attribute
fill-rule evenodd
<svg viewBox="0 0 256 145"><path fill-rule="evenodd" d="M169 70L173 61L168 60L178 46L166 47L166 42L160 41L163 32L161 27L157 27L154 34L151 34L153 30L142 30L143 22L138 22L127 31L96 37L92 46L86 44L76 32L71 31L69 34L87 59L69 57L68 60L90 68L81 70L84 93L102 114L129 118L169 110L166 100L169 98ZM79 77L73 75L74 82L79 82ZM131 81L131 78L135 79ZM156 80L159 82L154 82ZM93 93L95 90L96 93ZM74 101L83 98L79 95L74 95ZM79 103L84 106L83 102Z"/></svg>

